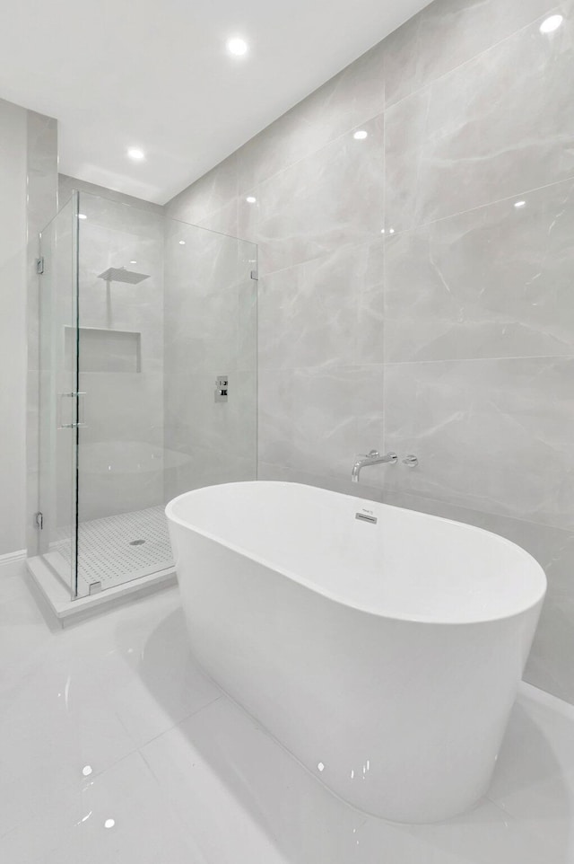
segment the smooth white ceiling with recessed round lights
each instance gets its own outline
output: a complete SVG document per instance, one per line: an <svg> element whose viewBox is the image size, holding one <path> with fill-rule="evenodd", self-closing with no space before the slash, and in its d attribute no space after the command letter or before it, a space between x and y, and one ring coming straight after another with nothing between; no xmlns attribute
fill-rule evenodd
<svg viewBox="0 0 574 864"><path fill-rule="evenodd" d="M163 204L428 2L4 0L0 97L57 118L61 172Z"/></svg>

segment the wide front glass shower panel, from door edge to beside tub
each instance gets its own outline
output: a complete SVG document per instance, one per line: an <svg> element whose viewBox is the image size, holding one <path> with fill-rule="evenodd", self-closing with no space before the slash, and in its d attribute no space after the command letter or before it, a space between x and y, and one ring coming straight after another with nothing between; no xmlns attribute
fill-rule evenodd
<svg viewBox="0 0 574 864"><path fill-rule="evenodd" d="M79 207L83 595L169 577L166 502L256 477L257 247L152 206Z"/></svg>

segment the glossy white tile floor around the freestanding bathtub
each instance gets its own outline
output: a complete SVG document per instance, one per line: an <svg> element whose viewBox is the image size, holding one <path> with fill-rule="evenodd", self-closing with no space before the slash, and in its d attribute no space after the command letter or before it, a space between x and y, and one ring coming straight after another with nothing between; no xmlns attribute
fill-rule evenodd
<svg viewBox="0 0 574 864"><path fill-rule="evenodd" d="M0 658L2 864L574 861L574 708L526 685L490 798L402 826L334 798L204 677L177 589L56 631L22 565L0 568Z"/></svg>

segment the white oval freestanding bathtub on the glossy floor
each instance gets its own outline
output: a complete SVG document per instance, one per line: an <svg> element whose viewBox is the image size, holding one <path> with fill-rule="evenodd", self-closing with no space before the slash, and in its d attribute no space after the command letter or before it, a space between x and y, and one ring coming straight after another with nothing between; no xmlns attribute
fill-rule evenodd
<svg viewBox="0 0 574 864"><path fill-rule="evenodd" d="M413 823L483 796L546 589L526 551L295 483L166 514L197 659L329 789Z"/></svg>

